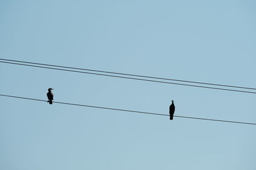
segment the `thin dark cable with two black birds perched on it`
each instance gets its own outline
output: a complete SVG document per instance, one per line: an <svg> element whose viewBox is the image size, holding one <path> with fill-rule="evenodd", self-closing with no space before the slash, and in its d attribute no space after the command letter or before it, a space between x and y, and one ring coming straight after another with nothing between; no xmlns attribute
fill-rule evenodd
<svg viewBox="0 0 256 170"><path fill-rule="evenodd" d="M27 100L33 100L33 101L47 102L47 101L42 100L42 99L33 99L33 98L28 98L28 97L10 96L10 95L4 95L4 94L0 94L0 96L13 97L13 98L18 98L18 99L27 99ZM68 105L73 105L73 106L83 106L83 107L90 107L90 108L99 108L99 109L104 109L104 110L127 111L127 112L142 113L142 114L148 114L148 115L158 115L158 116L170 117L170 115L165 115L165 114L161 114L161 113L145 112L145 111L123 110L123 109L116 109L116 108L106 108L106 107L100 107L100 106L90 106L90 105L85 105L85 104L63 103L63 102L56 102L56 101L54 101L53 103L68 104ZM173 115L173 117L191 118L191 119L198 119L198 120L210 120L210 121L228 122L228 123L236 123L236 124L256 125L255 123L236 122L236 121L230 121L230 120L218 120L218 119L212 119L212 118L183 117L183 116L177 116L177 115Z"/></svg>

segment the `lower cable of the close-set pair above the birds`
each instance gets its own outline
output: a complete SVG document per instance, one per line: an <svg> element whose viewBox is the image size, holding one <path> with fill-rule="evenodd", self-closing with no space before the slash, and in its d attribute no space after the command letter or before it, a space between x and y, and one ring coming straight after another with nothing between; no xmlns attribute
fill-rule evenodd
<svg viewBox="0 0 256 170"><path fill-rule="evenodd" d="M6 63L6 64L20 65L20 66L40 67L40 68L44 68L44 69L55 69L55 70L60 70L60 71L70 71L70 72L75 72L75 73L94 74L94 75L100 75L100 76L110 76L110 77L115 77L115 78L126 78L126 79L131 79L131 80L151 81L151 82L156 82L156 83L166 83L166 84L173 84L173 85L184 85L184 86L190 86L190 87L200 87L200 88L205 88L205 89L227 90L227 91L232 91L232 92L244 92L244 93L256 94L256 92L250 92L250 91L244 91L244 90L222 89L222 88L217 88L217 87L206 87L206 86L200 86L200 85L188 85L188 84L184 84L184 83L172 83L172 82L168 82L168 81L157 81L157 80L147 80L147 79L142 79L142 78L131 78L131 77L125 77L125 76L114 76L114 75L109 75L109 74L90 73L90 72L75 71L75 70L70 70L70 69L58 69L58 68L53 68L53 67L33 66L33 65L30 65L30 64L20 64L20 63L15 63L15 62L4 62L4 61L0 61L0 62Z"/></svg>

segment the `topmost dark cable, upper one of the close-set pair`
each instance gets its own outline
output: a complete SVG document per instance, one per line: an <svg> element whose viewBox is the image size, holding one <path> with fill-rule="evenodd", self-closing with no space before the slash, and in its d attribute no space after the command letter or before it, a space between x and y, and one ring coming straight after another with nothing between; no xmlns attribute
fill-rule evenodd
<svg viewBox="0 0 256 170"><path fill-rule="evenodd" d="M125 75L125 76L153 78L153 79L158 79L158 80L171 80L171 81L180 81L180 82L186 82L186 83L196 83L196 84L203 84L203 85L216 85L216 86L221 86L221 87L232 87L232 88L239 88L239 89L256 90L256 88L252 88L252 87L241 87L241 86L233 86L233 85L221 85L221 84L216 84L216 83L205 83L205 82L198 82L198 81L177 80L177 79L160 78L160 77L154 77L154 76L142 76L142 75L138 75L138 74L116 73L116 72L110 72L110 71L100 71L100 70L95 70L95 69L83 69L83 68L78 68L78 67L67 67L67 66L58 66L58 65L52 65L52 64L42 64L42 63L38 63L38 62L26 62L26 61L21 61L21 60L9 60L9 59L1 59L1 58L0 58L0 60L22 62L22 63L27 63L27 64L37 64L37 65L41 65L41 66L63 67L63 68L67 68L67 69L78 69L78 70L84 70L84 71L95 71L95 72L99 72L99 73L110 73L110 74L120 74L120 75Z"/></svg>

